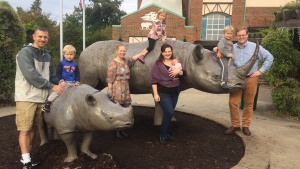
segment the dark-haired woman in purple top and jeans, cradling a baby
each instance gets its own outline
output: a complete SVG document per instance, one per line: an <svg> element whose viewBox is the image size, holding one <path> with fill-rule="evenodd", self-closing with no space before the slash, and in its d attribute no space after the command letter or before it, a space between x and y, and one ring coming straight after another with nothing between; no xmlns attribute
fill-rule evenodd
<svg viewBox="0 0 300 169"><path fill-rule="evenodd" d="M179 96L179 76L183 75L181 69L170 69L174 59L173 48L169 44L161 46L161 54L151 70L151 84L153 98L164 111L160 126L160 142L166 144L173 137L169 135L169 125L174 115L174 109Z"/></svg>

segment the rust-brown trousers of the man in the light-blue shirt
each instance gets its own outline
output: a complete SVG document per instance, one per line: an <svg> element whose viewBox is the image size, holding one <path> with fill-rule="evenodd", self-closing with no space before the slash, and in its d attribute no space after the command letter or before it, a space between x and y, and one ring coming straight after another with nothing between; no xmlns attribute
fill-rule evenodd
<svg viewBox="0 0 300 169"><path fill-rule="evenodd" d="M244 109L242 116L242 127L249 127L253 117L253 104L254 97L256 95L258 77L247 77L245 89L231 93L229 95L229 107L231 126L240 127L240 112L239 104L241 102L242 95L244 94Z"/></svg>

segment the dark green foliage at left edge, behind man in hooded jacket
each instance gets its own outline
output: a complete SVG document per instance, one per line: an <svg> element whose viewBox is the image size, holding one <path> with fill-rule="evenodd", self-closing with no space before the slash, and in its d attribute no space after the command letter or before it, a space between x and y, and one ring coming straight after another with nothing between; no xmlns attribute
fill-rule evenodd
<svg viewBox="0 0 300 169"><path fill-rule="evenodd" d="M24 29L7 2L0 2L0 103L14 101L15 55L24 43Z"/></svg>

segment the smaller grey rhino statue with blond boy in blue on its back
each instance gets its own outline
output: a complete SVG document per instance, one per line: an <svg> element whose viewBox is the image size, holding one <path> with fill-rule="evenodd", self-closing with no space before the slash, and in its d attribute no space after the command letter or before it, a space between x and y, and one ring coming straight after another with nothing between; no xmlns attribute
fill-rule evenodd
<svg viewBox="0 0 300 169"><path fill-rule="evenodd" d="M44 113L44 119L48 126L55 128L67 147L68 156L64 161L72 162L77 158L76 132L83 133L81 152L95 159L97 155L89 150L93 131L130 128L133 111L131 106L123 108L111 102L106 93L82 84L67 88L57 97L50 113Z"/></svg>

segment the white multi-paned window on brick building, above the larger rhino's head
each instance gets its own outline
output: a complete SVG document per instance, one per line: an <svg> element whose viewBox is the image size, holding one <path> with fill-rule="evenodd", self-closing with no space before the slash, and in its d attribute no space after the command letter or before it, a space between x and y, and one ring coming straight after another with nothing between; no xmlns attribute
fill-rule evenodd
<svg viewBox="0 0 300 169"><path fill-rule="evenodd" d="M230 25L230 18L221 14L208 14L202 19L201 40L220 40L223 29Z"/></svg>

